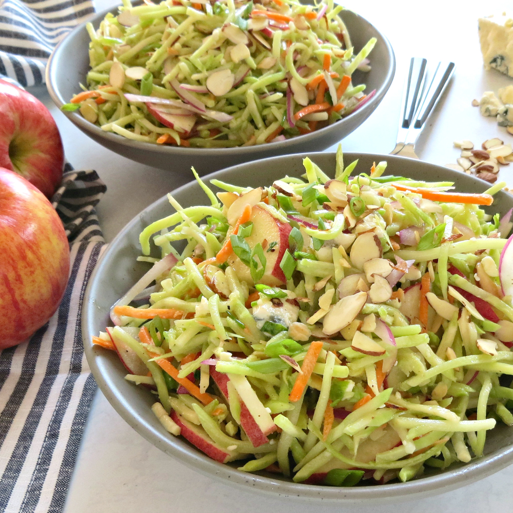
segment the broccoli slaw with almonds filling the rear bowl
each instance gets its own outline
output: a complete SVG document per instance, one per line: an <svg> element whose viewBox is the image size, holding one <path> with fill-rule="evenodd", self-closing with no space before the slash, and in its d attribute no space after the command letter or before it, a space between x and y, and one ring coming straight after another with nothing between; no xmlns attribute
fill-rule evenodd
<svg viewBox="0 0 513 513"><path fill-rule="evenodd" d="M376 91L372 38L353 53L333 0L165 0L87 24L87 87L65 104L108 132L194 148L251 146L311 133L361 108Z"/></svg>

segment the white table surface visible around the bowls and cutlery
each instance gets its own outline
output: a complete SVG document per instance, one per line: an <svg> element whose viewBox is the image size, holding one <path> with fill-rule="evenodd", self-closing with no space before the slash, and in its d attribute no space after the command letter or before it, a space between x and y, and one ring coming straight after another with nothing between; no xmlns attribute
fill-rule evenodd
<svg viewBox="0 0 513 513"><path fill-rule="evenodd" d="M97 10L115 5L115 0L96 0ZM513 143L513 136L494 120L485 119L471 106L483 91L495 90L513 80L496 71L485 72L477 36L477 18L506 9L511 2L455 0L346 0L376 25L390 40L396 53L396 77L385 100L356 131L343 141L345 151L388 153L394 147L401 92L411 56L456 63L452 83L437 111L431 116L417 146L421 159L456 163L455 140L468 139L477 147L498 136ZM513 13L513 11L510 11ZM131 162L104 149L75 128L52 104L48 94L37 95L50 108L61 130L68 160L82 169L96 169L108 190L98 206L107 241L134 215L166 192L186 183L184 177ZM513 168L513 166L511 166ZM501 176L513 185L510 167ZM406 513L513 511L510 484L513 466L478 483L442 496L394 505L300 505L279 498L257 496L204 477L171 459L130 428L98 391L87 421L82 446L68 491L66 513L152 513L221 511L313 510Z"/></svg>

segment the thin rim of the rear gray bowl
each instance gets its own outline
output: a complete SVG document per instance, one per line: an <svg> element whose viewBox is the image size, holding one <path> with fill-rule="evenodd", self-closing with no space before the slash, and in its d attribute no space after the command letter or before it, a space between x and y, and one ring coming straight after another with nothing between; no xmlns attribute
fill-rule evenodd
<svg viewBox="0 0 513 513"><path fill-rule="evenodd" d="M134 2L134 4L140 3L141 0L138 0L137 2ZM48 92L50 94L50 97L53 100L53 103L57 106L59 110L61 110L61 107L67 103L64 98L61 95L61 92L55 87L56 81L52 80L52 77L55 76L57 73L57 66L56 66L56 58L58 56L58 53L60 53L61 49L64 47L64 44L67 43L71 38L73 38L78 32L84 30L87 23L95 23L98 20L101 20L105 17L105 15L109 12L114 12L117 10L117 8L120 6L116 6L113 8L104 9L101 12L96 13L93 17L89 18L85 22L81 23L80 25L77 25L71 32L69 32L66 37L61 40L57 46L53 49L52 53L50 54L50 57L48 58L48 64L46 66L45 71L45 80ZM387 73L384 77L383 83L379 89L376 90L376 94L369 102L367 102L361 109L358 109L357 112L352 112L347 117L343 118L342 120L337 121L336 123L332 123L331 125L328 125L324 128L321 128L320 130L315 130L311 133L307 134L301 134L297 135L295 137L291 137L290 139L287 139L286 141L279 141L277 143L272 144L273 150L280 150L283 153L286 153L288 149L291 149L293 146L298 144L298 141L301 140L301 142L308 142L310 140L316 140L318 137L321 137L324 133L327 133L328 131L336 129L338 126L337 124L339 122L343 122L344 120L349 120L353 116L353 114L362 115L363 119L367 119L367 117L373 112L373 110L381 103L384 95L388 91L394 74L396 72L396 56L393 52L392 46L390 42L388 41L388 38L384 36L374 25L372 25L370 22L367 21L366 18L363 16L360 16L360 14L351 11L350 9L344 9L345 11L349 11L352 13L352 15L357 16L358 18L361 18L363 22L368 24L369 27L371 27L376 33L381 37L386 51L388 53L389 59L390 59L390 66L388 67ZM344 11L343 10L343 11ZM343 12L342 11L342 12ZM61 111L62 112L62 111ZM235 152L237 155L243 156L245 154L252 154L254 152L255 148L266 148L268 146L264 145L254 145L254 146L235 146L233 148L187 148L187 147L181 147L181 146L169 146L169 145L156 145L152 143L147 143L144 141L134 141L131 139L127 139L126 137L123 137L122 135L112 133L112 132L106 132L102 130L100 127L93 125L92 123L89 123L86 121L81 115L77 114L76 112L67 112L65 111L64 114L68 119L74 123L76 126L84 130L85 132L90 133L92 136L95 137L101 137L102 139L106 139L112 143L121 144L122 146L128 146L132 149L138 149L138 150L149 150L156 153L161 154L173 154L173 155L184 155L189 156L191 154L197 154L198 151L201 151L205 155L216 155L216 156L224 156L224 155L232 155L233 152Z"/></svg>

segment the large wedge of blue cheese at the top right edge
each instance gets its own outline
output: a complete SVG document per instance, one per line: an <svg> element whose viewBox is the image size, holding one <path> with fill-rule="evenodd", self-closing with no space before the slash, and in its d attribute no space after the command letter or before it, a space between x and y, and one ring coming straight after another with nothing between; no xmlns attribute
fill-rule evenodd
<svg viewBox="0 0 513 513"><path fill-rule="evenodd" d="M479 42L485 69L513 76L513 19L506 13L479 18Z"/></svg>

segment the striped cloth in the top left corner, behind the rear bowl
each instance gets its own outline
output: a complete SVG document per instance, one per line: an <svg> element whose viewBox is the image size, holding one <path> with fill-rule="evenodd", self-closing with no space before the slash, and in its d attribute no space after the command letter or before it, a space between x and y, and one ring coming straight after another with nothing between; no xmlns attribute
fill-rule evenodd
<svg viewBox="0 0 513 513"><path fill-rule="evenodd" d="M44 84L54 46L93 12L92 0L0 0L0 75Z"/></svg>

